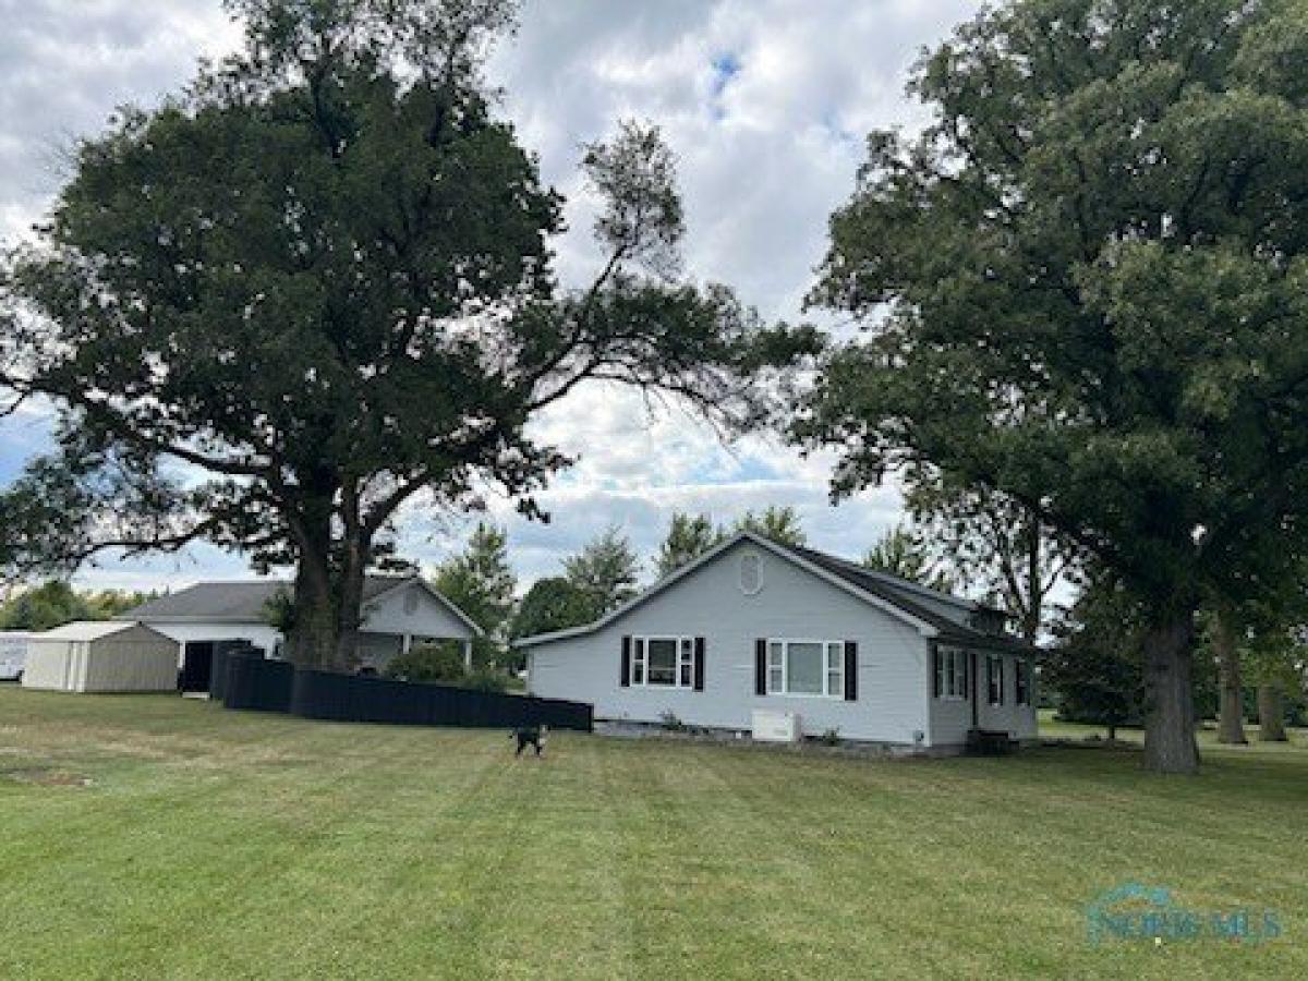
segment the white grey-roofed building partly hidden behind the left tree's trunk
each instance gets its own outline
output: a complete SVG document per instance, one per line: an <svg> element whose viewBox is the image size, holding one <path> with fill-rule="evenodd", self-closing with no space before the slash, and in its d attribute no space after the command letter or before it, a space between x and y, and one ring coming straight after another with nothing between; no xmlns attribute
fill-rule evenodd
<svg viewBox="0 0 1308 981"><path fill-rule="evenodd" d="M200 582L128 610L120 620L148 624L182 645L182 687L208 691L213 653L252 646L280 657L284 637L268 623L269 603L292 585L279 579ZM471 658L481 628L419 576L369 576L364 581L360 666L381 668L419 642L456 640Z"/></svg>

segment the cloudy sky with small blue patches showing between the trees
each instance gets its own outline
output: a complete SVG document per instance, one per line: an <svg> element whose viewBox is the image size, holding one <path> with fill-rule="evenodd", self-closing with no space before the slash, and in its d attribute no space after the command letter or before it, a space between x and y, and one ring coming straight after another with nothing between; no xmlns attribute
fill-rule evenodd
<svg viewBox="0 0 1308 981"><path fill-rule="evenodd" d="M560 271L582 281L589 209L578 146L616 119L659 123L680 160L687 269L734 285L768 318L798 319L825 246L831 211L849 196L872 127L921 123L904 78L923 46L978 4L967 0L526 0L518 35L490 75L502 110L569 199ZM44 211L63 179L61 149L123 103L150 105L239 31L218 0L0 0L0 238ZM579 462L544 494L549 525L509 525L525 581L616 522L646 556L672 510L730 522L748 508L791 505L810 543L855 555L893 525L880 489L832 508L831 459L802 459L774 441L723 446L684 413L650 415L638 399L595 387L538 421ZM46 441L41 413L0 425L0 483ZM424 565L456 549L458 517L411 515L404 553ZM196 547L178 557L102 561L82 573L105 586L179 586L247 576L239 556Z"/></svg>

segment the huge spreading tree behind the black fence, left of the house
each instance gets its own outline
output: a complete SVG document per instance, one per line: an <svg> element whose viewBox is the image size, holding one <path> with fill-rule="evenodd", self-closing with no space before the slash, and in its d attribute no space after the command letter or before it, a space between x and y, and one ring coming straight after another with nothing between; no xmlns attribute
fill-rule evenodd
<svg viewBox="0 0 1308 981"><path fill-rule="evenodd" d="M508 0L230 0L242 52L82 141L7 263L0 371L58 446L0 498L0 561L207 539L293 566L301 663L345 667L364 574L411 506L531 494L526 425L594 379L729 422L797 351L679 273L674 161L586 150L593 283L552 271L562 199L480 67Z"/></svg>

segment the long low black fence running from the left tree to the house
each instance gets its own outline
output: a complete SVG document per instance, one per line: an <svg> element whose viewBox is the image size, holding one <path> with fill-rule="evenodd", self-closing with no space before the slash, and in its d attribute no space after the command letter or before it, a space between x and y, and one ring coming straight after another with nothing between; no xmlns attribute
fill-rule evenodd
<svg viewBox="0 0 1308 981"><path fill-rule="evenodd" d="M392 726L517 729L543 725L582 732L594 729L594 706L560 698L296 670L284 661L251 657L228 658L226 675L224 705L229 709L289 712L303 718Z"/></svg>

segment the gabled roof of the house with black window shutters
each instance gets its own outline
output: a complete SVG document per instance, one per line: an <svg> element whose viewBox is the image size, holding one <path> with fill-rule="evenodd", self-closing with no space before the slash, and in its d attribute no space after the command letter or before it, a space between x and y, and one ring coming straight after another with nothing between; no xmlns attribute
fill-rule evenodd
<svg viewBox="0 0 1308 981"><path fill-rule="evenodd" d="M542 633L535 637L523 637L522 640L515 641L515 646L531 647L539 644L548 644L551 641L565 640L569 637L581 637L603 629L608 624L689 576L700 566L712 562L719 555L730 551L742 542L749 542L772 555L780 556L781 559L827 581L837 589L862 599L870 606L891 613L892 616L916 628L925 637L937 637L944 641L1005 650L1020 649L1023 653L1029 653L1031 650L1016 638L988 634L964 624L959 624L950 617L927 608L922 603L914 602L912 594L927 591L942 600L959 606L961 610L971 611L980 608L969 600L937 593L935 590L926 590L923 586L909 583L906 579L900 579L899 577L889 576L887 573L872 573L844 559L827 555L825 552L816 552L811 548L782 545L772 539L756 535L752 531L736 532L726 542L710 548L708 552L695 559L695 561L681 566L671 576L659 579L641 595L628 603L624 603L616 610L612 610L591 624L573 627L566 630ZM912 586L912 589L908 589L909 586Z"/></svg>

